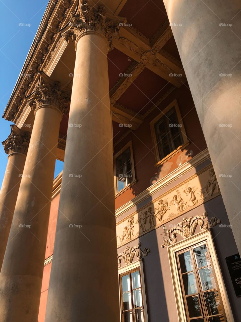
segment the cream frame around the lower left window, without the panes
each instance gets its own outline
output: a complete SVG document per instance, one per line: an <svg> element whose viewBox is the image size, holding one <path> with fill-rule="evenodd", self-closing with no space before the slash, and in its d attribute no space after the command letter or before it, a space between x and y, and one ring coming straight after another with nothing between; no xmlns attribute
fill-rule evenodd
<svg viewBox="0 0 241 322"><path fill-rule="evenodd" d="M148 314L147 314L147 300L146 300L146 290L145 290L145 281L144 281L144 270L143 270L143 262L142 259L138 260L134 263L130 263L129 265L123 266L118 269L119 275L119 303L120 303L120 319L123 322L123 315L122 315L122 293L121 293L121 276L126 275L126 273L130 273L133 271L138 270L140 271L140 281L141 281L141 295L142 295L142 307L144 312L144 320L148 322Z"/></svg>

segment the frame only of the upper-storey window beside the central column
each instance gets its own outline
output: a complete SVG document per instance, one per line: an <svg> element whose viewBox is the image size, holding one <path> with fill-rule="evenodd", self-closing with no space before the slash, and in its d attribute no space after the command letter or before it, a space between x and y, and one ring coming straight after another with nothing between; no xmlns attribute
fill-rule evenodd
<svg viewBox="0 0 241 322"><path fill-rule="evenodd" d="M118 178L116 173L116 159L124 153L127 149L130 149L130 162L131 162L131 172L132 172L132 181L126 185L123 189L118 191ZM115 187L115 198L118 197L120 194L128 190L132 185L134 185L136 181L136 175L135 175L135 167L134 167L134 157L133 157L133 149L132 149L132 141L129 141L119 152L117 152L113 156L113 166L114 166L114 187Z"/></svg>

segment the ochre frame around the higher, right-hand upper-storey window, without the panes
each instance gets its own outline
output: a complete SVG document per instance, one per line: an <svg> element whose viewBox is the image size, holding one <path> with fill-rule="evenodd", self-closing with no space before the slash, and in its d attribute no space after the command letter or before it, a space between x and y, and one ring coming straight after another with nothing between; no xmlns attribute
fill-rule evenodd
<svg viewBox="0 0 241 322"><path fill-rule="evenodd" d="M159 154L158 144L157 144L157 138L156 138L156 129L155 124L158 122L165 114L167 114L172 108L175 109L176 116L178 119L179 124L182 125L180 128L181 130L181 136L183 139L183 144L174 149L171 153L169 153L167 156L164 156L163 158ZM153 150L156 158L156 167L161 166L164 162L168 161L171 157L173 157L175 154L183 150L186 146L189 145L190 141L188 140L186 136L186 131L183 125L181 113L177 104L177 100L174 99L161 113L159 113L151 122L150 122L150 128L151 128L151 136L152 136L152 142L153 142Z"/></svg>

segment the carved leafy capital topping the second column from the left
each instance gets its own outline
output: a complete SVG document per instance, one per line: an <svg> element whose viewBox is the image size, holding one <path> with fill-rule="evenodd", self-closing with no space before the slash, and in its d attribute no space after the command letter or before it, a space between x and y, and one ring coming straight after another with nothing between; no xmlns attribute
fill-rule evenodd
<svg viewBox="0 0 241 322"><path fill-rule="evenodd" d="M70 96L70 91L60 90L60 82L50 80L49 76L40 71L38 83L34 91L26 96L26 100L31 109L36 109L41 105L53 105L63 114L67 114Z"/></svg>

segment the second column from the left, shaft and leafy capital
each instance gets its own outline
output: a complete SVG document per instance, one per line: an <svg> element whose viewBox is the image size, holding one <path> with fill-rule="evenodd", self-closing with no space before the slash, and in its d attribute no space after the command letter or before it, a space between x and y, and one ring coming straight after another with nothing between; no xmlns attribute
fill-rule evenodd
<svg viewBox="0 0 241 322"><path fill-rule="evenodd" d="M0 274L0 321L38 321L64 99L58 85L40 72L35 91L26 97L35 120Z"/></svg>

